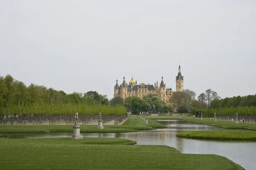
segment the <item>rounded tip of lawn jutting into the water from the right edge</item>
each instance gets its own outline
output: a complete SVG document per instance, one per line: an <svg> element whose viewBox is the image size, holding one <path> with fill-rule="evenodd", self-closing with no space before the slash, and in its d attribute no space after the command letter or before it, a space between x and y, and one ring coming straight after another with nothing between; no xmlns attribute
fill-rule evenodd
<svg viewBox="0 0 256 170"><path fill-rule="evenodd" d="M200 130L177 133L178 137L194 139L256 140L253 130Z"/></svg>

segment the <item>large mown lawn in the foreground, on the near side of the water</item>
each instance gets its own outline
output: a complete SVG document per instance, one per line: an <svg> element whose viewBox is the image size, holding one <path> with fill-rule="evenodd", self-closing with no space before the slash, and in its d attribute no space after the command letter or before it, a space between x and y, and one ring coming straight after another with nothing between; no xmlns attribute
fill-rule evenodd
<svg viewBox="0 0 256 170"><path fill-rule="evenodd" d="M99 141L95 141L99 140ZM105 141L107 140L107 141ZM243 170L217 155L181 154L157 145L124 145L113 138L0 139L1 170ZM86 144L87 143L93 144ZM102 142L108 144L101 144ZM113 141L113 142L111 142ZM120 142L116 144L116 142Z"/></svg>

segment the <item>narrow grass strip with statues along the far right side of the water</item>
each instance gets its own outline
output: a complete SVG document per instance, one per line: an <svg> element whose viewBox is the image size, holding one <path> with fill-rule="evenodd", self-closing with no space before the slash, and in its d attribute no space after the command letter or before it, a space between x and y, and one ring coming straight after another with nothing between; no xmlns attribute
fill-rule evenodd
<svg viewBox="0 0 256 170"><path fill-rule="evenodd" d="M230 121L221 121L218 120L217 122L214 122L213 119L210 118L195 118L195 117L181 117L181 116L148 116L148 119L161 119L161 120L184 120L188 122L195 122L195 123L201 123L204 125L211 125L211 126L217 126L217 127L223 127L223 128L233 128L233 129L247 129L247 130L256 130L256 124L253 123L242 123L239 122L239 124L235 124L235 122Z"/></svg>

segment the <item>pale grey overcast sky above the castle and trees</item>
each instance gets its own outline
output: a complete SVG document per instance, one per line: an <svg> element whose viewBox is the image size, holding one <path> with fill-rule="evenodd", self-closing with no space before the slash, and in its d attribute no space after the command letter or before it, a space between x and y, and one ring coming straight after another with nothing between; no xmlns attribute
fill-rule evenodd
<svg viewBox="0 0 256 170"><path fill-rule="evenodd" d="M256 94L255 0L0 0L0 75L113 98L178 67L196 98Z"/></svg>

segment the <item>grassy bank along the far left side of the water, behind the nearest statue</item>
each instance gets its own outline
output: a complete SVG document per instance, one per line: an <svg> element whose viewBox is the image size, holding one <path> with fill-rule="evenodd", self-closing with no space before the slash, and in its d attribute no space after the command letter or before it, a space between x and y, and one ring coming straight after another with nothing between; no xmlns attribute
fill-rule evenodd
<svg viewBox="0 0 256 170"><path fill-rule="evenodd" d="M125 133L138 130L152 130L164 128L154 120L145 124L141 118L128 118L122 125L103 125L104 129L97 129L97 125L80 125L81 133ZM73 125L0 125L0 133L48 133L48 132L73 132Z"/></svg>

